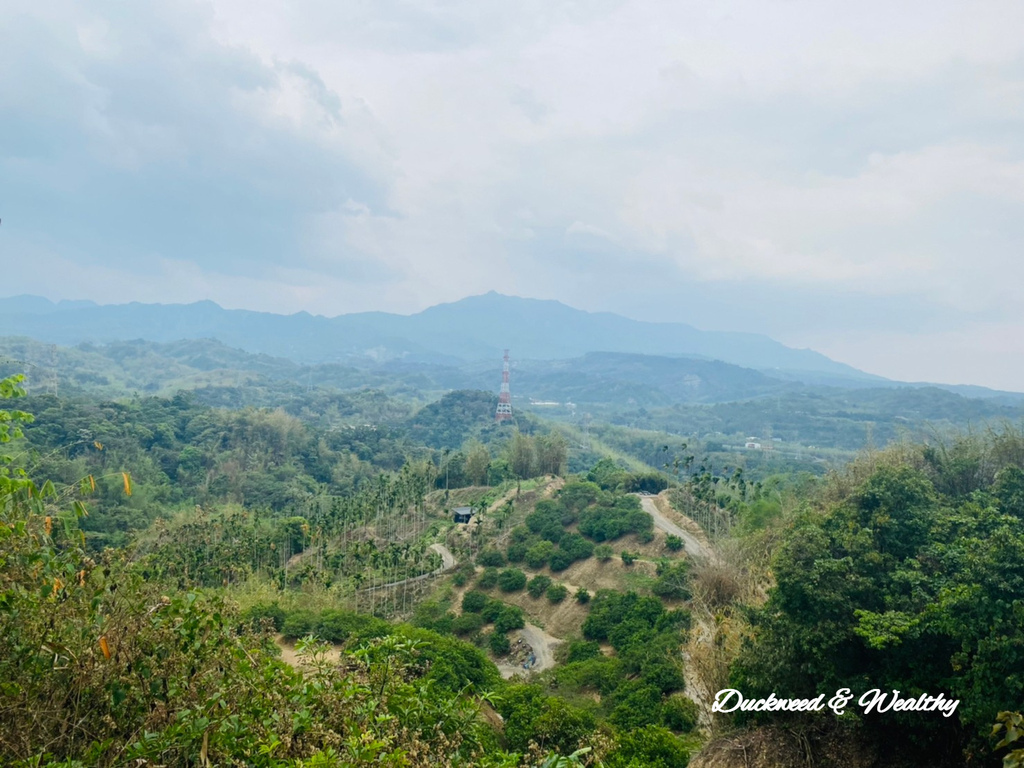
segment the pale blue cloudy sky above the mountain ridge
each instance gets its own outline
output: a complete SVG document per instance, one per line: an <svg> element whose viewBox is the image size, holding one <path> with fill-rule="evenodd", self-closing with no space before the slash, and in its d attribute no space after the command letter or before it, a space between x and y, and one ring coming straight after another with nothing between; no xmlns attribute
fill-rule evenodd
<svg viewBox="0 0 1024 768"><path fill-rule="evenodd" d="M0 295L497 290L1024 391L1024 3L8 0Z"/></svg>

